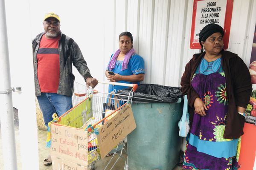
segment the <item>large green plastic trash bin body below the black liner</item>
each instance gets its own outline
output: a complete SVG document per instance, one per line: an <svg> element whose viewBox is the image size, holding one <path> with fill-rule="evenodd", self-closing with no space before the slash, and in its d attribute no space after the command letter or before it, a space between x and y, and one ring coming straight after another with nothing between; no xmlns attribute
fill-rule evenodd
<svg viewBox="0 0 256 170"><path fill-rule="evenodd" d="M127 136L129 170L171 170L179 160L183 100L132 103L136 129Z"/></svg>

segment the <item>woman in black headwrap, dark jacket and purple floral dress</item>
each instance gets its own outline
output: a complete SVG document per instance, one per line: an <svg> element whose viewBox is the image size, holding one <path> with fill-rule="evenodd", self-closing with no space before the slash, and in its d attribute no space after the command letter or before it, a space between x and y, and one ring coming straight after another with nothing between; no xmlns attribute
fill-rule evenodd
<svg viewBox="0 0 256 170"><path fill-rule="evenodd" d="M205 50L186 65L181 91L188 96L190 133L183 168L238 169L244 111L252 91L243 60L223 50L224 31L205 26L199 42Z"/></svg>

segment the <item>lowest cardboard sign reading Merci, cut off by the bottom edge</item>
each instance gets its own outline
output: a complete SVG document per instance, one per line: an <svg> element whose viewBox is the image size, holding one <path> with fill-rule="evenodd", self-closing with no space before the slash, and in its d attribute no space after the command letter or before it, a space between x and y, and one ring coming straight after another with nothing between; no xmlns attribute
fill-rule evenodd
<svg viewBox="0 0 256 170"><path fill-rule="evenodd" d="M87 167L81 166L74 162L57 158L56 156L52 157L52 170L87 170Z"/></svg>

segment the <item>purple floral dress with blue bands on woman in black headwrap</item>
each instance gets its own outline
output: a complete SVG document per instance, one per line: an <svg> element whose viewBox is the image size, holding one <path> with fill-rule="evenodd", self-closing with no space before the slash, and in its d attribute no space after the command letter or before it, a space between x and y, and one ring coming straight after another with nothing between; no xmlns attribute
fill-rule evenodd
<svg viewBox="0 0 256 170"><path fill-rule="evenodd" d="M191 83L208 110L205 110L206 116L194 113L183 168L237 170L241 138L223 138L228 101L221 58L214 62L203 58Z"/></svg>

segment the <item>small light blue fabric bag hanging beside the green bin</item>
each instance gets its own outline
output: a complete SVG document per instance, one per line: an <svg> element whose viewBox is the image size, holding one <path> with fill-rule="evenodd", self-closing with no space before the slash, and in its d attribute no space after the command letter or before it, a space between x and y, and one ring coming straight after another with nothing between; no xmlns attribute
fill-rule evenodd
<svg viewBox="0 0 256 170"><path fill-rule="evenodd" d="M184 105L183 105L183 113L182 117L180 119L180 122L178 123L178 126L180 128L179 136L186 137L189 133L189 113L188 113L188 98L185 95L184 96Z"/></svg>

